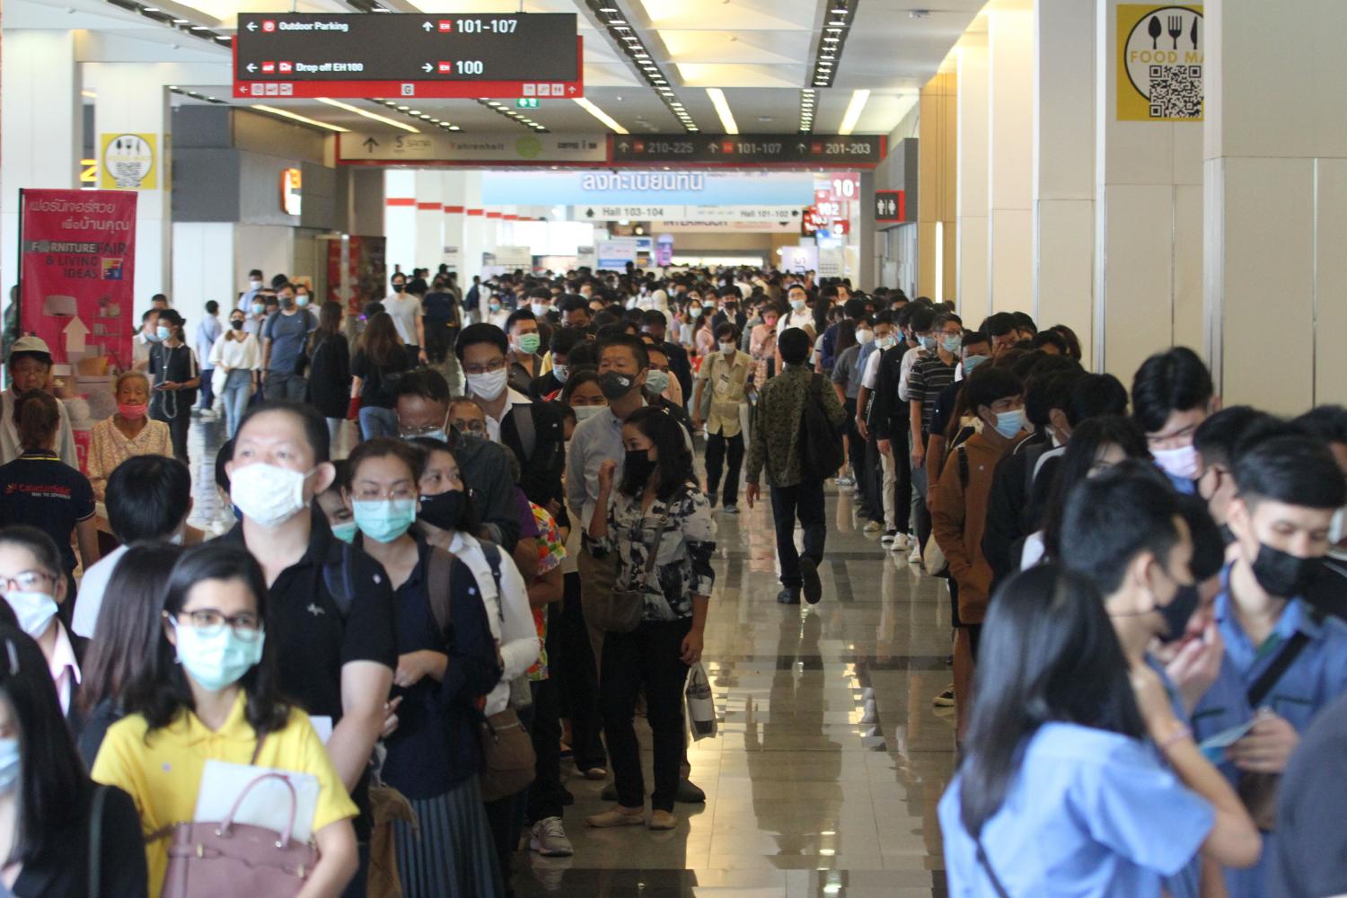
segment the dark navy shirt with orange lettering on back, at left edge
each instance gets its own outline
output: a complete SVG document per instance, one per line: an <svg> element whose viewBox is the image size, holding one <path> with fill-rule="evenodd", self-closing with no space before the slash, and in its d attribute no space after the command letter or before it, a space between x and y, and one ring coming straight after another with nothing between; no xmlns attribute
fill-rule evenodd
<svg viewBox="0 0 1347 898"><path fill-rule="evenodd" d="M51 537L66 574L75 569L70 534L93 517L89 478L53 452L24 452L0 464L0 526L28 524Z"/></svg>

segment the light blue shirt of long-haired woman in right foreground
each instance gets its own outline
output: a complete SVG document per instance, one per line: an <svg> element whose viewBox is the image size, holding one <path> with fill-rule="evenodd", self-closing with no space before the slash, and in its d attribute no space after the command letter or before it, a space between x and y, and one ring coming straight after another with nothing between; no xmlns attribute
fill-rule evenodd
<svg viewBox="0 0 1347 898"><path fill-rule="evenodd" d="M951 898L994 895L960 819L962 777L940 798ZM1140 739L1070 723L1029 738L1005 801L982 827L987 863L1012 895L1158 895L1215 813Z"/></svg>

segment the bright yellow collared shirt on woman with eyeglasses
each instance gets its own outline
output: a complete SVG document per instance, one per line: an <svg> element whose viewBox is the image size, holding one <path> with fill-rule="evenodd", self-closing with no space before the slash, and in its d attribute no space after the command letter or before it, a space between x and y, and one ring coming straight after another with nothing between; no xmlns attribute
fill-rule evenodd
<svg viewBox="0 0 1347 898"><path fill-rule="evenodd" d="M206 761L249 763L253 757L257 736L244 716L244 707L245 695L240 691L220 730L210 730L195 714L182 711L172 723L148 736L143 716L124 718L108 728L93 765L93 778L132 797L144 835L191 820ZM256 763L306 773L318 780L314 832L356 816L356 805L303 711L291 710L286 727L267 734ZM145 860L150 866L150 895L156 898L163 891L164 871L168 868L168 840L147 843Z"/></svg>

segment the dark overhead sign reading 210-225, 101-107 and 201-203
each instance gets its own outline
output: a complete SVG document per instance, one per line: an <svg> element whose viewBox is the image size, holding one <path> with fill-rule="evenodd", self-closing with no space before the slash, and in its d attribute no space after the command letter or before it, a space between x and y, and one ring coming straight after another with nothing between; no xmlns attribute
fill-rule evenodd
<svg viewBox="0 0 1347 898"><path fill-rule="evenodd" d="M882 135L616 135L613 162L709 166L788 164L873 168Z"/></svg>

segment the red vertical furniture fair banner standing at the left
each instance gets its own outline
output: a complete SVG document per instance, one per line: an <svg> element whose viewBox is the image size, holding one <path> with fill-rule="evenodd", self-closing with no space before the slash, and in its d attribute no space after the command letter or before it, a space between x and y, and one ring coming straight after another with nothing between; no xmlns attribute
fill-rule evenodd
<svg viewBox="0 0 1347 898"><path fill-rule="evenodd" d="M44 339L57 365L131 368L135 193L22 190L19 265L19 330Z"/></svg>

